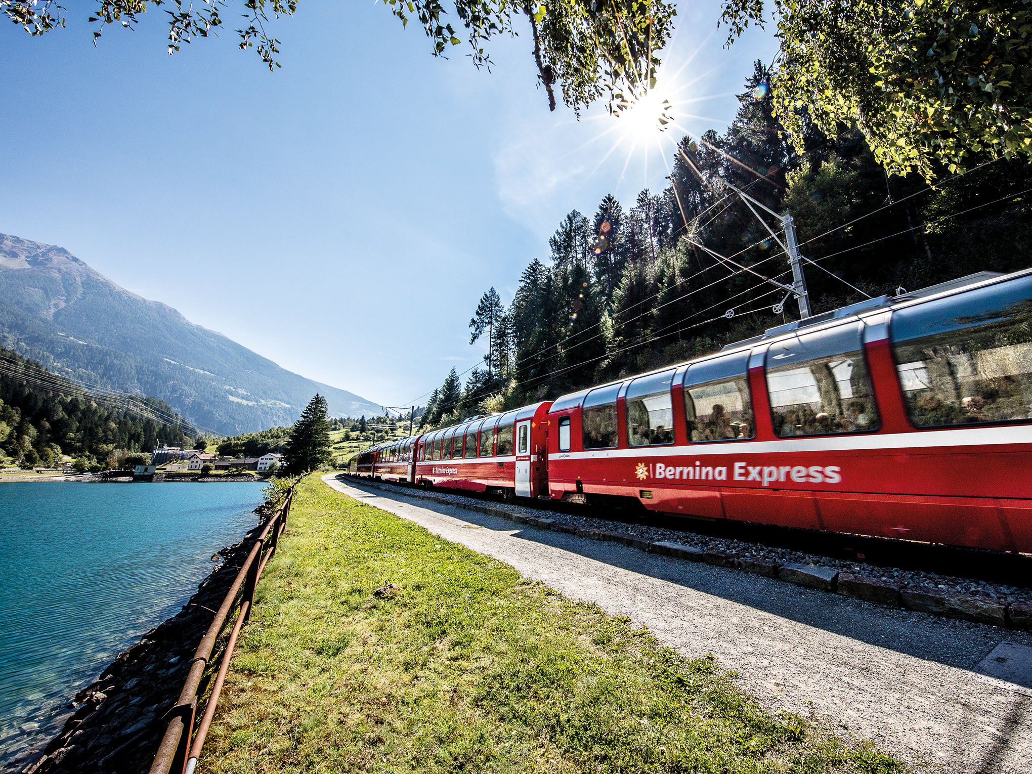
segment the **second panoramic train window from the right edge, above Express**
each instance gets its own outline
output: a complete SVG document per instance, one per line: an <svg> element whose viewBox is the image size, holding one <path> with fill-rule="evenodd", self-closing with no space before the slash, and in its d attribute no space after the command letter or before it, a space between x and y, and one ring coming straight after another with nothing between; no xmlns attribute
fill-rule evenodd
<svg viewBox="0 0 1032 774"><path fill-rule="evenodd" d="M777 342L767 350L767 392L774 432L824 436L878 427L864 361L863 323Z"/></svg>

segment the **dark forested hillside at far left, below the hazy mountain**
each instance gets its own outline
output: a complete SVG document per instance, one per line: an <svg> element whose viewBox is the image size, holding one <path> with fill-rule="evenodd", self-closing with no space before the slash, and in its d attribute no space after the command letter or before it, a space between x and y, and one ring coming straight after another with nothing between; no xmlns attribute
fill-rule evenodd
<svg viewBox="0 0 1032 774"><path fill-rule="evenodd" d="M51 466L67 454L79 467L96 469L124 456L120 452L150 452L159 439L189 446L196 434L162 400L134 398L131 404L91 395L39 363L0 349L0 456L6 453L14 462Z"/></svg>

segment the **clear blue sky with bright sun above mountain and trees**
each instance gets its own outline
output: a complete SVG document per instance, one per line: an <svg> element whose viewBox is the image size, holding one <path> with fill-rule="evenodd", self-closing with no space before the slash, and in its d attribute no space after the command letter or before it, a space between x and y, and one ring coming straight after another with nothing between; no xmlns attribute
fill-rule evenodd
<svg viewBox="0 0 1032 774"><path fill-rule="evenodd" d="M231 15L169 57L161 12L94 47L71 6L41 38L0 24L0 232L387 405L476 362L480 295L511 300L571 209L664 188L683 134L628 131L602 105L549 112L528 28L491 44L488 74L463 46L433 59L382 3L301 0L273 23L269 73ZM716 2L678 13L659 88L679 126L722 131L776 43L750 31L724 50Z"/></svg>

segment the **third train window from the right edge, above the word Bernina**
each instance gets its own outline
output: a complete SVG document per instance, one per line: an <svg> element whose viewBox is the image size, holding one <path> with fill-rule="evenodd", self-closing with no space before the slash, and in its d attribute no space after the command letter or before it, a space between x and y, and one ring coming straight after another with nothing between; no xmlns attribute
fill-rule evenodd
<svg viewBox="0 0 1032 774"><path fill-rule="evenodd" d="M684 373L684 417L692 441L753 437L748 361L749 353L740 352L688 366Z"/></svg>

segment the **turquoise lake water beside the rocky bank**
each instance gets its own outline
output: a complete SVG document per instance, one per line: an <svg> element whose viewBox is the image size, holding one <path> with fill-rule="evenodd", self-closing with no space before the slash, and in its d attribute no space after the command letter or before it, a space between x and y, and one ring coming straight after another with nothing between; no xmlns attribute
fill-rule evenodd
<svg viewBox="0 0 1032 774"><path fill-rule="evenodd" d="M0 484L0 770L174 615L257 523L258 483Z"/></svg>

